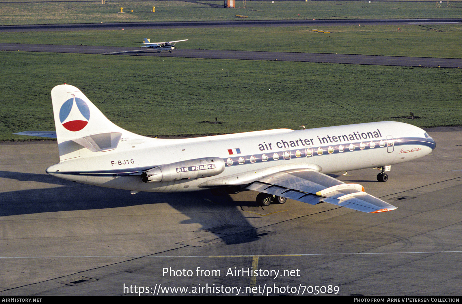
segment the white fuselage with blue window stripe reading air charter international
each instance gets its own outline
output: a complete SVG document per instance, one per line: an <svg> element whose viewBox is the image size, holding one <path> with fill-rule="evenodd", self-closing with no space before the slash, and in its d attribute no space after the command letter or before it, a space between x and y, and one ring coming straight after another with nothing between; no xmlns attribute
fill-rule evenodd
<svg viewBox="0 0 462 304"><path fill-rule="evenodd" d="M123 140L127 144L124 145ZM390 121L187 139L146 137L144 143L136 144L122 138L117 149L62 161L49 167L47 173L80 183L131 191L197 191L213 186L246 185L260 176L291 166L311 166L322 173L388 166L422 157L435 146L424 130ZM223 172L147 183L140 177L154 167L207 157L222 159ZM181 164L177 167L176 170L186 170ZM199 164L193 167L202 170Z"/></svg>

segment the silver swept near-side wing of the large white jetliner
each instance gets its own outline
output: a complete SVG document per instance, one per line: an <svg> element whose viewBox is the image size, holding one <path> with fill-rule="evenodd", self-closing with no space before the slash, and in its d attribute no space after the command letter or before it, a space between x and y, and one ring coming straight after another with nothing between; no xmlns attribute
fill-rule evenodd
<svg viewBox="0 0 462 304"><path fill-rule="evenodd" d="M246 186L255 190L315 205L331 203L362 212L384 212L396 207L364 192L358 184L345 184L311 169L292 169L273 173Z"/></svg>

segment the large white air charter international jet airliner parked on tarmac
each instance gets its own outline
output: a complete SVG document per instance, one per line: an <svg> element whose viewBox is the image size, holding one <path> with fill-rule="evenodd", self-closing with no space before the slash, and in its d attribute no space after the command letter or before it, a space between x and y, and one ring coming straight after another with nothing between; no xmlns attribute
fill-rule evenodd
<svg viewBox="0 0 462 304"><path fill-rule="evenodd" d="M326 174L393 164L427 155L436 144L424 130L384 121L325 128L254 131L210 137L144 137L113 124L76 87L51 91L60 162L46 172L116 189L182 192L241 188L257 202L326 202L363 212L396 207ZM53 132L15 134L52 137Z"/></svg>

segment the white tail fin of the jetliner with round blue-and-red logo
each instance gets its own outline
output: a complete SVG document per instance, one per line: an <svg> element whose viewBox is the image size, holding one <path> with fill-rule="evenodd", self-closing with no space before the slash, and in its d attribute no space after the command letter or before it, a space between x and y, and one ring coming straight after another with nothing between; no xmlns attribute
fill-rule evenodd
<svg viewBox="0 0 462 304"><path fill-rule="evenodd" d="M141 137L113 124L76 87L51 90L60 161L117 148L121 137Z"/></svg>

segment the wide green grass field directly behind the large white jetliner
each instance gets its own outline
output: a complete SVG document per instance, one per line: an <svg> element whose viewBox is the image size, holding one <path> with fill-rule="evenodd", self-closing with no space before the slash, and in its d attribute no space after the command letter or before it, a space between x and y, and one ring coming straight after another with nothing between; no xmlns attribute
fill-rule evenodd
<svg viewBox="0 0 462 304"><path fill-rule="evenodd" d="M1 52L0 139L54 130L50 90L81 89L143 135L395 120L459 125L462 69ZM401 119L413 112L422 119ZM208 124L202 121L224 124Z"/></svg>

